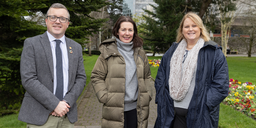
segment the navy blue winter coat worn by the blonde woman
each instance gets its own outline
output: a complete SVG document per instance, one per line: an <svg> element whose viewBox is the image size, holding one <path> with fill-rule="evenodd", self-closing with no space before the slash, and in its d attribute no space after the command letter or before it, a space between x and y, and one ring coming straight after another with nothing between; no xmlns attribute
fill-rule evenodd
<svg viewBox="0 0 256 128"><path fill-rule="evenodd" d="M170 61L179 43L164 54L156 75L157 118L154 128L172 128L174 106L169 91ZM196 84L187 112L188 128L217 128L220 103L228 96L228 64L222 47L205 42L199 50Z"/></svg>

